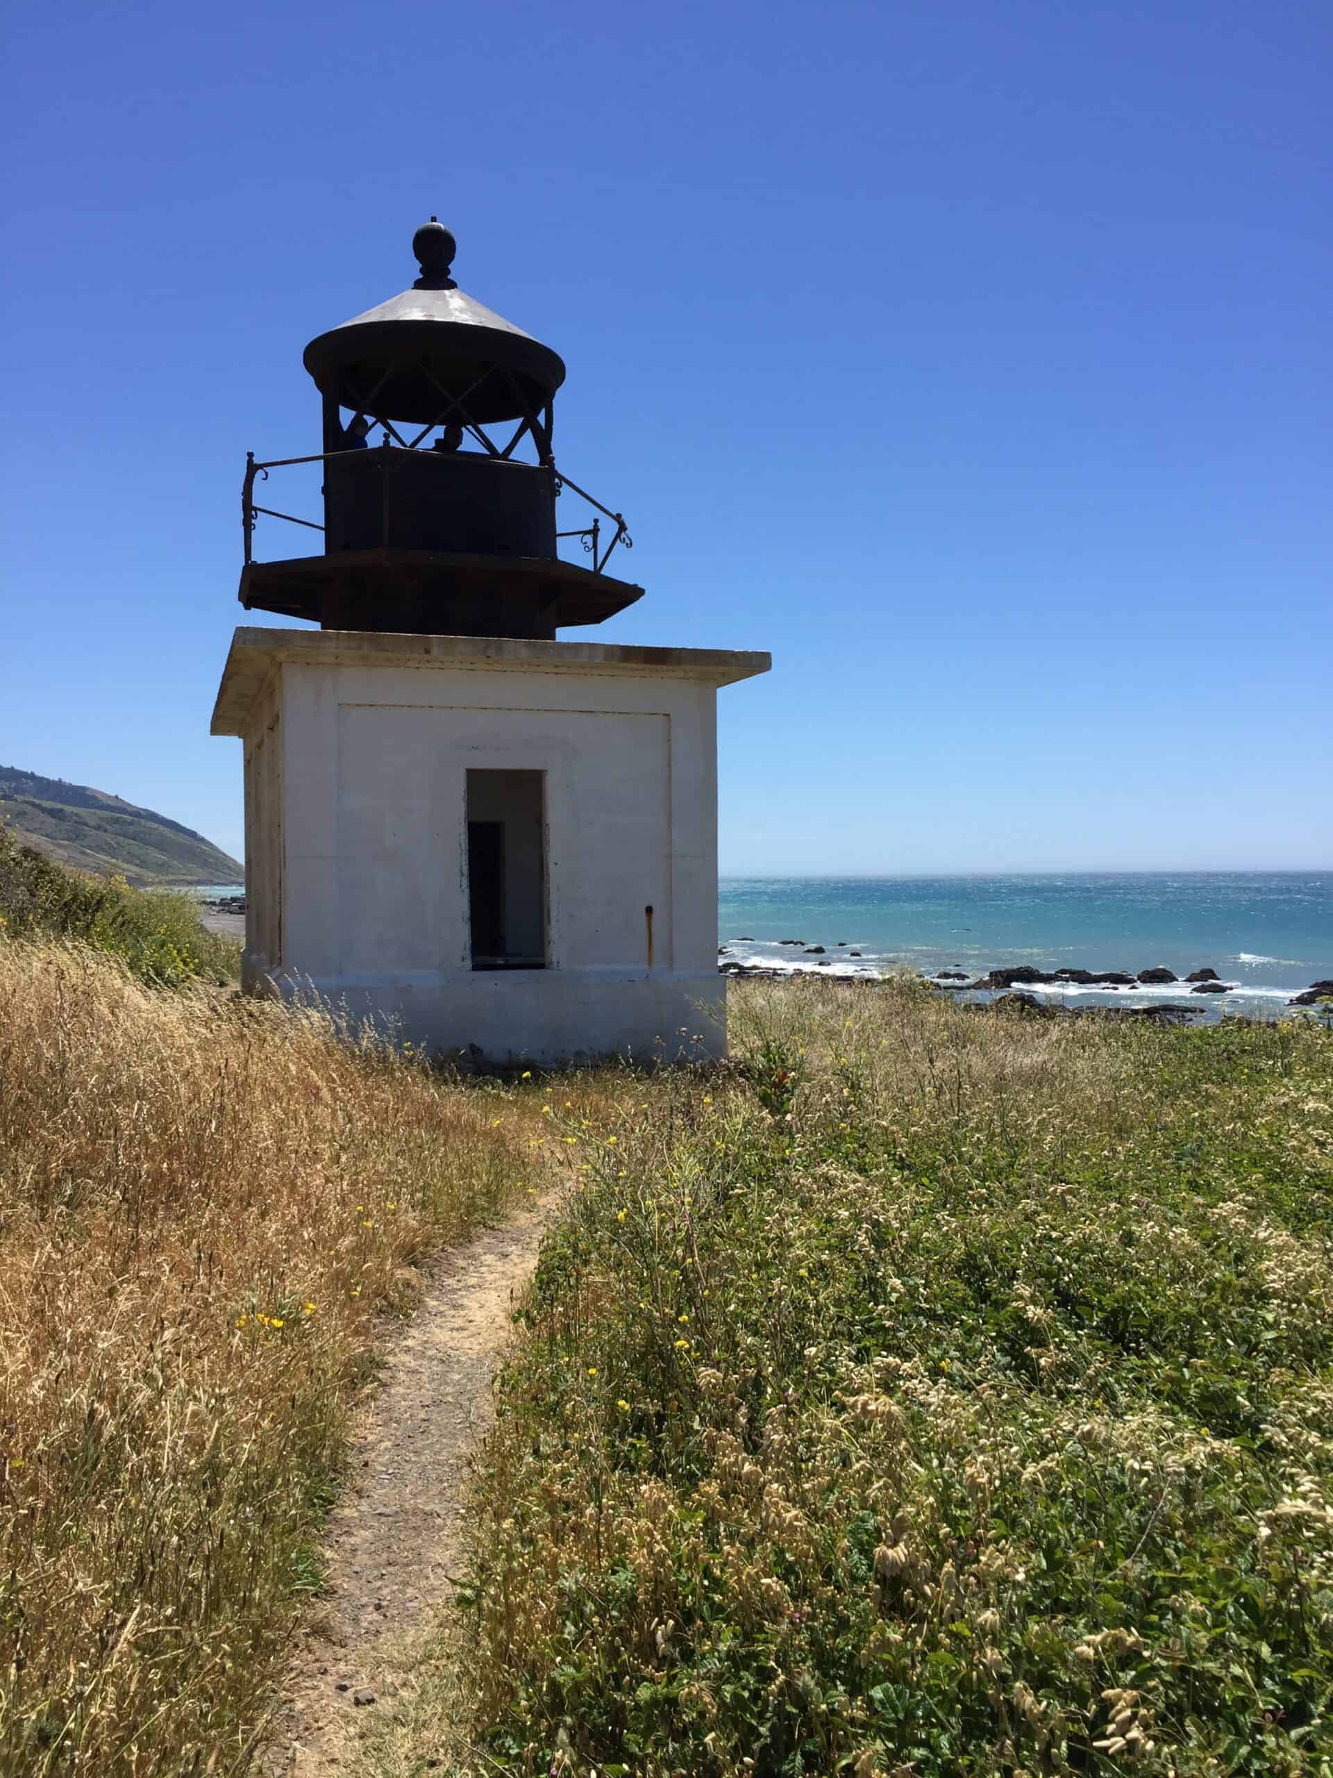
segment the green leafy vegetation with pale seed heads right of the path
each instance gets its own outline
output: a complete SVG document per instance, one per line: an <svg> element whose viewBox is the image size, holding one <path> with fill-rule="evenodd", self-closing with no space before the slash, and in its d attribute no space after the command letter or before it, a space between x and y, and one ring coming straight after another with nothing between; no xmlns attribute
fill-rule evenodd
<svg viewBox="0 0 1333 1778"><path fill-rule="evenodd" d="M476 1774L1331 1773L1333 1033L732 1021L549 1083L471 1671L364 1769L462 1696Z"/></svg>

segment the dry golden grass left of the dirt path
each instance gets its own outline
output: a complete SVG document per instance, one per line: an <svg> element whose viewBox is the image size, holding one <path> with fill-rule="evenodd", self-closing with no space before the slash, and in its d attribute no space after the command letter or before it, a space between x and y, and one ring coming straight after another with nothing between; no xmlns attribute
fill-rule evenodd
<svg viewBox="0 0 1333 1778"><path fill-rule="evenodd" d="M375 1317L535 1106L0 942L0 1773L242 1766Z"/></svg>

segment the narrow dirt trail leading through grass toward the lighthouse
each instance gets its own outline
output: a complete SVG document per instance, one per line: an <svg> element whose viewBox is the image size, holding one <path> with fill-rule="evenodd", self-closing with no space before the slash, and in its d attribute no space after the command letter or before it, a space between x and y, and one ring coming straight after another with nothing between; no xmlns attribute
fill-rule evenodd
<svg viewBox="0 0 1333 1778"><path fill-rule="evenodd" d="M553 1205L446 1253L384 1385L354 1435L352 1481L325 1534L327 1609L293 1661L267 1771L327 1774L345 1762L377 1655L444 1604L464 1561L462 1488L485 1435L491 1382ZM377 1698L377 1703L380 1700Z"/></svg>

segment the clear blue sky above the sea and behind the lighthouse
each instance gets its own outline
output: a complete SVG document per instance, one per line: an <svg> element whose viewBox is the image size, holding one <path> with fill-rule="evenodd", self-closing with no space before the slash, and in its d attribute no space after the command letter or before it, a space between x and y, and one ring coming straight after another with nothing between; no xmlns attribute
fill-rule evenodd
<svg viewBox="0 0 1333 1778"><path fill-rule="evenodd" d="M302 347L437 212L633 523L567 635L773 651L723 869L1333 862L1319 0L7 30L0 763L240 848L243 453L318 450Z"/></svg>

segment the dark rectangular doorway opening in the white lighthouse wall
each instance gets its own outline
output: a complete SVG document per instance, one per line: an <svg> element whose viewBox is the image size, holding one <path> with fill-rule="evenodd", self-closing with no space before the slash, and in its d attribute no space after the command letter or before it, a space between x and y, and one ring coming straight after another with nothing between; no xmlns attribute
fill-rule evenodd
<svg viewBox="0 0 1333 1778"><path fill-rule="evenodd" d="M467 773L473 969L546 967L546 773Z"/></svg>

